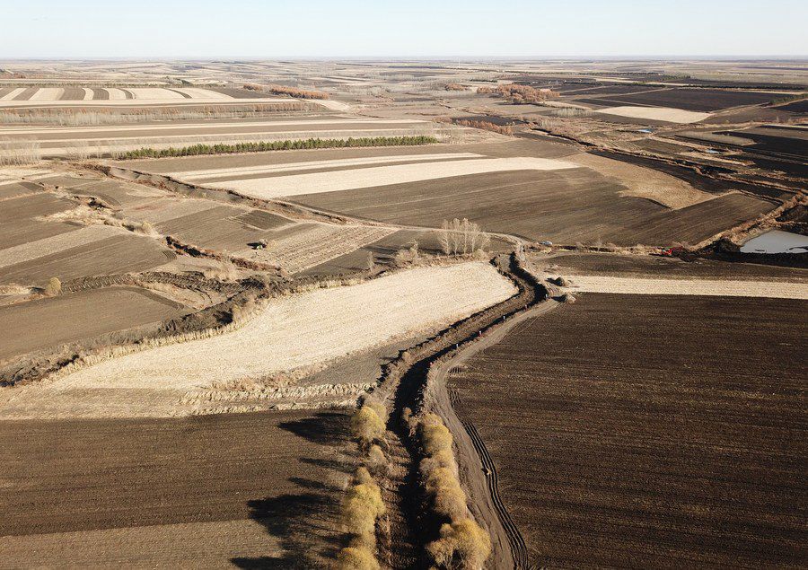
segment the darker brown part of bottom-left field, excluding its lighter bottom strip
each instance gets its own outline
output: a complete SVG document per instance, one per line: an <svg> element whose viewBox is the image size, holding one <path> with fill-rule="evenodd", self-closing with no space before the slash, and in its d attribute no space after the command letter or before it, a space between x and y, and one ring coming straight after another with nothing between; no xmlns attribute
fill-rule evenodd
<svg viewBox="0 0 808 570"><path fill-rule="evenodd" d="M254 519L267 556L237 566L311 567L340 546L354 469L342 412L0 422L0 434L0 537Z"/></svg>

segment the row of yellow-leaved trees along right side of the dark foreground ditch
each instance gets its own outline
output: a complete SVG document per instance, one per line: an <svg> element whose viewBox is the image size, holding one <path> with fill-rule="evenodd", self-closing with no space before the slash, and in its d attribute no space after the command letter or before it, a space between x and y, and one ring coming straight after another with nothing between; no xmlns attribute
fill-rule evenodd
<svg viewBox="0 0 808 570"><path fill-rule="evenodd" d="M491 539L471 519L452 453L452 433L435 414L420 419L418 432L426 454L419 466L426 495L435 513L449 521L426 550L439 567L476 570L491 554Z"/></svg>

